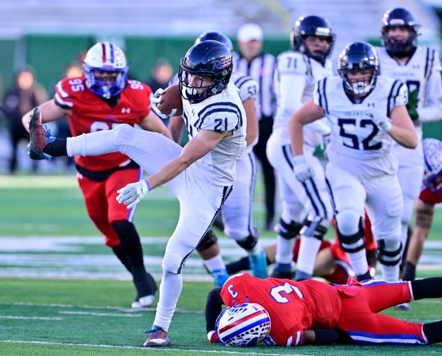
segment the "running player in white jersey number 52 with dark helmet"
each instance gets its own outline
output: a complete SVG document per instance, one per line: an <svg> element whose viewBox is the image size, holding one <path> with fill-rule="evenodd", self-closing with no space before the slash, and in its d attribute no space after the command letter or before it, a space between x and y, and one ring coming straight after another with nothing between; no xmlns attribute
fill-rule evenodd
<svg viewBox="0 0 442 356"><path fill-rule="evenodd" d="M386 281L399 280L402 194L394 142L414 148L418 139L406 110L407 88L379 75L376 49L355 42L339 56L339 76L319 80L314 97L290 119L294 172L300 182L313 171L303 157L302 128L327 116L327 185L332 195L341 248L359 281L371 278L364 241L364 206L379 246Z"/></svg>

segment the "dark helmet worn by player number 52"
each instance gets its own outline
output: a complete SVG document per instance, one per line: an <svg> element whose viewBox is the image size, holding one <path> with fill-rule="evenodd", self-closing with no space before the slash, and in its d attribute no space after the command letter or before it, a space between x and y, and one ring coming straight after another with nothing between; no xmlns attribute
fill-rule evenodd
<svg viewBox="0 0 442 356"><path fill-rule="evenodd" d="M376 50L366 42L354 42L346 46L339 55L338 73L347 93L356 97L368 95L374 89L379 75Z"/></svg>

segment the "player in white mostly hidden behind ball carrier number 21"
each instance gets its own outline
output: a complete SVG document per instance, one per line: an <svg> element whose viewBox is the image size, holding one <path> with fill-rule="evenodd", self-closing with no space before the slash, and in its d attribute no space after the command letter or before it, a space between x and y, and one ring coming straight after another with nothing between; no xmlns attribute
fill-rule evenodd
<svg viewBox="0 0 442 356"><path fill-rule="evenodd" d="M206 31L196 39L195 44L207 40L224 43L233 53L232 41L224 33ZM178 77L176 80L178 81ZM258 140L255 96L259 90L259 85L255 79L242 73L232 73L230 80L239 89L242 105L245 108L247 148L242 159L236 164L236 182L232 193L222 206L224 232L247 251L253 275L258 278L267 278L265 253L259 241L257 229L252 224L252 203L257 176L257 158L252 149ZM161 113L159 114L161 115ZM175 142L178 142L183 131L183 118L172 117L168 127L173 132ZM215 278L215 286L222 287L230 276L227 273L224 261L222 261L217 236L215 236L212 229L207 231L196 249L204 261L205 268Z"/></svg>

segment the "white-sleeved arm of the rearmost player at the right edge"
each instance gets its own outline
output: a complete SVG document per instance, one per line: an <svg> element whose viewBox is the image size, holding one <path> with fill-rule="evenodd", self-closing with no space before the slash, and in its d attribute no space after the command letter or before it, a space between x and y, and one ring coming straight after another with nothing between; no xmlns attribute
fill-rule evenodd
<svg viewBox="0 0 442 356"><path fill-rule="evenodd" d="M435 51L433 68L428 78L426 88L426 103L423 108L417 108L419 120L430 122L442 119L442 79L441 79L441 61L439 54Z"/></svg>

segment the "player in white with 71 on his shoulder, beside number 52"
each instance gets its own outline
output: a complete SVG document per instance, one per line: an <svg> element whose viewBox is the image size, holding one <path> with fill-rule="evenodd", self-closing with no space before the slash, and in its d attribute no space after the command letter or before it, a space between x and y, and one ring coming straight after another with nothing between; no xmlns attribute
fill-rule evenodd
<svg viewBox="0 0 442 356"><path fill-rule="evenodd" d="M290 148L289 118L313 96L319 79L332 75L334 33L327 19L309 15L300 17L292 29L293 51L277 57L274 88L277 113L273 132L267 142L267 157L278 177L282 216L277 224L277 265L274 278L290 278L294 238L301 234L295 281L312 278L314 260L332 219L332 204L325 184L324 169L315 148L329 135L326 120L304 127L304 157L314 167L314 177L306 182L294 179Z"/></svg>

